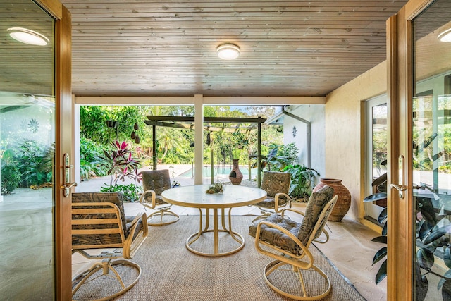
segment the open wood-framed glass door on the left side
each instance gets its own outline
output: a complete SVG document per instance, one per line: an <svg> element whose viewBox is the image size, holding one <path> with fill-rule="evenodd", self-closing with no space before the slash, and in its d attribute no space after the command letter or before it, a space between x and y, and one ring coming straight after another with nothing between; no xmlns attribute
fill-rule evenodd
<svg viewBox="0 0 451 301"><path fill-rule="evenodd" d="M0 13L0 298L70 300L70 14L54 0Z"/></svg>

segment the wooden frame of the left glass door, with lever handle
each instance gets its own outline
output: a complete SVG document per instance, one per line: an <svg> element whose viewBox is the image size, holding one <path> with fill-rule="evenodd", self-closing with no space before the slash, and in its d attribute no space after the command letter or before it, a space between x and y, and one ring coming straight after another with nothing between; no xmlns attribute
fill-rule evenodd
<svg viewBox="0 0 451 301"><path fill-rule="evenodd" d="M72 240L70 194L63 196L63 154L73 154L72 25L70 13L58 0L35 0L55 19L55 161L54 247L55 299L72 300ZM71 156L73 164L73 158ZM72 171L73 173L73 171ZM72 175L74 177L74 175Z"/></svg>

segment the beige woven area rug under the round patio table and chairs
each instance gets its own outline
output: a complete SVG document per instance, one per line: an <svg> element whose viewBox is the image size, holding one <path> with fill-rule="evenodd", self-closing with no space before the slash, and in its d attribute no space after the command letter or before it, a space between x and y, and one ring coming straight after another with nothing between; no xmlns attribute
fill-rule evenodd
<svg viewBox="0 0 451 301"><path fill-rule="evenodd" d="M259 254L253 238L247 234L252 216L232 216L232 219L233 230L245 238L245 247L226 257L199 256L185 247L187 238L199 227L199 216L180 216L180 220L171 225L150 227L149 237L132 259L140 264L142 276L116 300L289 300L271 290L264 281L264 266L272 259ZM208 251L209 242L197 241L195 247ZM232 240L226 240L220 247L230 247L231 243ZM330 294L323 300L364 300L316 247L312 246L311 251L316 265L328 274L332 283ZM128 274L136 275L134 271ZM290 283L289 279L283 281ZM308 285L321 285L314 282ZM102 290L113 292L113 283L92 281L86 289L80 289L74 299L92 300L99 297L97 293Z"/></svg>

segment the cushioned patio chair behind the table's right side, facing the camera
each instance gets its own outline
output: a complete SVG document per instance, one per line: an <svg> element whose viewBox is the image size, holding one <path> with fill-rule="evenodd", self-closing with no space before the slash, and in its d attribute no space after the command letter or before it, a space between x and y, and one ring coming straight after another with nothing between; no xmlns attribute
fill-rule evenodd
<svg viewBox="0 0 451 301"><path fill-rule="evenodd" d="M263 171L263 180L261 189L266 191L266 199L252 206L259 207L261 215L257 216L252 222L259 219L265 219L273 213L280 212L280 209L291 207L290 192L290 173L281 173L279 171Z"/></svg>

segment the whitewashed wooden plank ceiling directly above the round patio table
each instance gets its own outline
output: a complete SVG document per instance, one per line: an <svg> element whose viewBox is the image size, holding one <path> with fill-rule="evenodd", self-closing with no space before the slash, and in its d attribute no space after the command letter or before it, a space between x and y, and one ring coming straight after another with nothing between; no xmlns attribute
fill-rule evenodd
<svg viewBox="0 0 451 301"><path fill-rule="evenodd" d="M61 0L78 96L323 96L385 60L407 0ZM219 44L241 49L234 61Z"/></svg>

